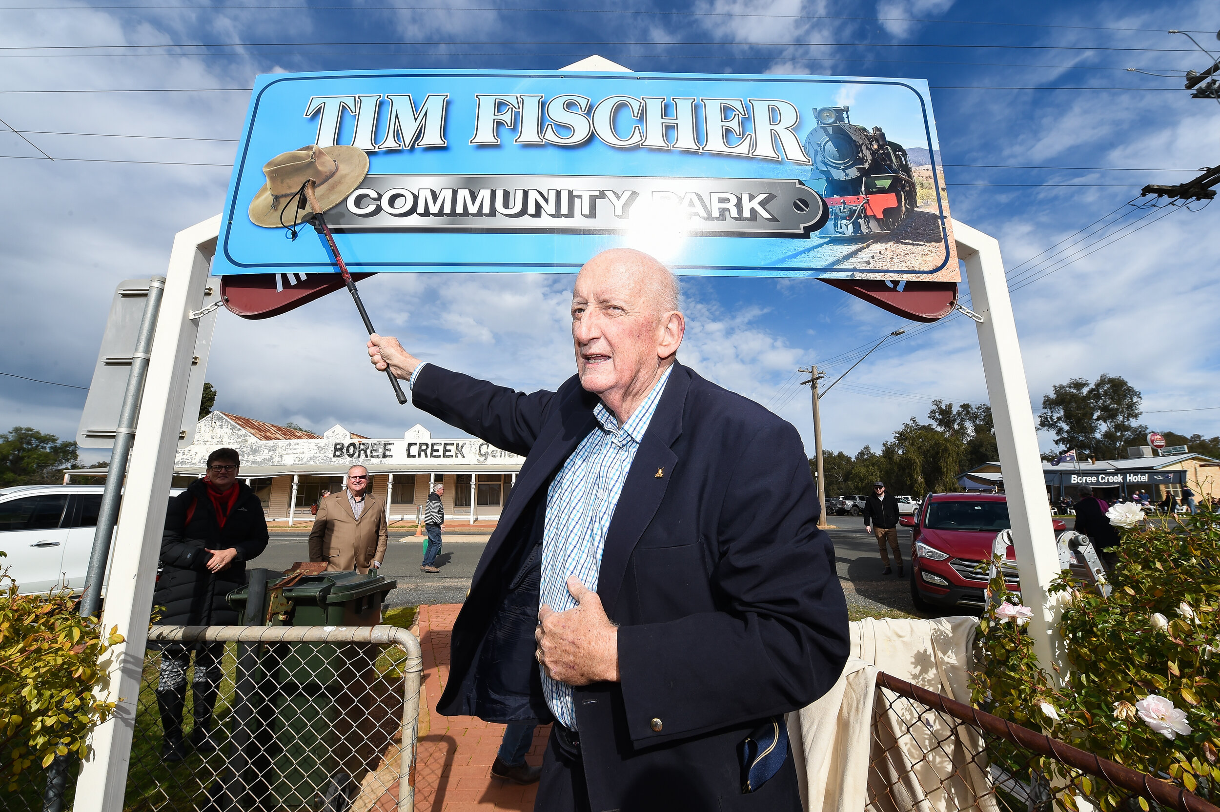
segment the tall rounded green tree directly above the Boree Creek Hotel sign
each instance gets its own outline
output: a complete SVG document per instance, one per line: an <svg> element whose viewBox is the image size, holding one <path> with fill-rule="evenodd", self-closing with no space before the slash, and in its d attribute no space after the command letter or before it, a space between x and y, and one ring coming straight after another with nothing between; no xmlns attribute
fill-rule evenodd
<svg viewBox="0 0 1220 812"><path fill-rule="evenodd" d="M1119 376L1102 374L1092 384L1072 378L1042 397L1038 427L1054 433L1064 451L1116 460L1127 446L1144 444L1148 427L1136 423L1142 400L1139 390Z"/></svg>

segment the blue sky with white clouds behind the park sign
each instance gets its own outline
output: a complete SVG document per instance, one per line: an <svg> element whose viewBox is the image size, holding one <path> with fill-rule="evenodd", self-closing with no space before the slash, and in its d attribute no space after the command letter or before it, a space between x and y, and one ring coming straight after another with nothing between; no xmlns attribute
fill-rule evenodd
<svg viewBox="0 0 1220 812"><path fill-rule="evenodd" d="M384 4L370 0L370 5ZM943 5L882 4L878 16L935 16L944 13ZM697 9L752 15L842 13L828 10L826 4L795 0L762 5L722 0ZM1170 12L1174 23L1183 28L1210 24L1210 10L1202 2L1142 15L1103 4L1086 16L1104 16L1111 26L1159 28L1160 17ZM860 11L861 16L869 13ZM1076 11L1060 15L1065 16L1047 22L1093 24L1077 20L1081 15ZM223 15L200 10L148 18L79 10L15 15L11 20L15 22L0 30L0 44L360 39L368 32L361 28L368 21L405 39L440 34L449 39L553 35L523 23L527 18L508 13L386 16L360 10L343 17L343 26L337 28L325 23L336 17L232 9ZM681 22L667 17L619 20L612 15L570 21L565 16L555 24L570 22L565 35L571 39L715 35L743 43L833 41L836 37L860 33L860 23L766 16ZM584 35L584 30L595 34ZM959 29L944 28L937 34L952 38L955 32ZM981 35L969 32L971 40ZM1021 35L1043 44L1091 44L1104 37L1115 45L1154 41L1158 48L1183 46L1181 38L1166 35L1163 41L1146 33ZM0 59L0 71L6 89L242 88L249 87L256 72L316 66L312 57L281 50L274 56L239 59ZM743 72L804 72L825 63L795 57L843 56L830 49L808 48L743 48L733 52L769 57L755 63L725 62ZM1100 65L1114 57L1071 59ZM1203 67L1205 61L1202 55L1194 60L1192 55L1158 54L1155 59L1164 60L1164 67L1190 67L1194 62ZM484 63L495 61L479 62ZM631 63L648 68L659 62L638 59ZM714 61L682 66L712 71L720 67ZM876 72L886 69L880 66ZM989 74L967 69L971 80L989 80ZM997 71L996 76L1036 82L1057 73L1063 71ZM1070 76L1072 84L1076 77L1098 84L1132 80L1118 72ZM941 93L935 101L944 155L953 163L1193 167L1214 162L1215 139L1209 133L1215 129L1216 109L1185 93ZM246 104L243 93L9 94L2 115L20 129L234 138ZM29 138L56 157L228 163L233 155L233 144L228 143ZM35 155L12 134L0 133L0 154ZM0 202L6 223L6 296L0 335L7 349L0 371L85 385L115 285L128 277L163 272L174 232L220 210L229 173L224 168L189 166L2 161L6 190L11 193ZM1031 178L1054 177L1030 171L967 174L965 169L949 169L950 182L1031 183ZM1058 177L1052 182L1085 182L1078 172ZM1142 173L1096 177L1091 182L1165 179ZM1172 176L1174 180L1183 177L1190 176ZM1000 239L1006 263L1013 267L1135 191L956 187L950 189L950 198L956 217ZM1216 334L1220 290L1211 273L1215 250L1207 239L1214 218L1214 210L1174 213L1014 294L1033 402L1054 383L1076 376L1096 379L1103 372L1122 374L1142 389L1148 408L1210 406L1216 401L1218 363L1210 337ZM553 388L573 369L567 332L570 284L564 276L382 274L361 283L361 290L375 324L403 338L422 357L531 390ZM895 317L814 280L702 279L688 280L684 289L691 329L681 355L683 362L725 386L771 404L802 430L808 447L813 447L809 394L806 386L798 385L795 368L876 340L900 324ZM362 434L379 435L400 434L417 421L440 429L434 418L394 402L384 377L365 360L364 340L354 307L342 291L271 321L246 322L222 313L207 378L221 393L220 408L272 422L292 419L314 428L342 423ZM847 366L832 365L830 373L837 376ZM83 393L2 380L0 429L29 424L61 436L74 434ZM877 447L903 421L926 415L927 400L887 391L953 402L985 401L974 323L956 318L921 337L895 341L852 372L822 401L827 447L854 451L866 443ZM1218 412L1150 416L1147 422L1163 429L1220 433ZM1043 438L1044 446L1048 443Z"/></svg>

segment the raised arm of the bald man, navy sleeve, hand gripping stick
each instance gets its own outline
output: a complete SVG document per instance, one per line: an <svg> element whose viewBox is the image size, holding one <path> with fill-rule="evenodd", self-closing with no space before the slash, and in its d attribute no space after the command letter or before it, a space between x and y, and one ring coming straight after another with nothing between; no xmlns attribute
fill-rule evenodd
<svg viewBox="0 0 1220 812"><path fill-rule="evenodd" d="M522 456L533 447L555 396L545 390L527 395L426 363L389 335L368 337L368 357L379 371L389 369L395 378L410 382L417 408Z"/></svg>

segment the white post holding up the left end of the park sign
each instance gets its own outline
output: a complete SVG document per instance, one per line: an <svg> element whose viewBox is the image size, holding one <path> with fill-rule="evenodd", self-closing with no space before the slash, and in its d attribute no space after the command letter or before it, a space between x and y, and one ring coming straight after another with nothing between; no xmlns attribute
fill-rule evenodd
<svg viewBox="0 0 1220 812"><path fill-rule="evenodd" d="M118 706L89 739L89 755L77 780L76 812L123 808L156 562L199 334L199 318L190 316L203 306L220 226L217 215L178 232L170 255L101 614L102 628L116 627L126 639L111 649L106 679L98 689L101 699Z"/></svg>

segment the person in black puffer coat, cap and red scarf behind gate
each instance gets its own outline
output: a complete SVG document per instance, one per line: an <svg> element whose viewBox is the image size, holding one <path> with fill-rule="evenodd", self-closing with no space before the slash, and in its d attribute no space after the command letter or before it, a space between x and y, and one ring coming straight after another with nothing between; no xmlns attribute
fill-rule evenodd
<svg viewBox="0 0 1220 812"><path fill-rule="evenodd" d="M207 474L170 500L161 540L161 577L152 605L162 607L161 625L232 625L237 610L227 595L245 585L245 562L267 547L262 504L237 480L240 460L233 449L207 457ZM167 645L161 652L156 700L165 740L161 758L187 756L182 711L187 702L187 668L195 652L194 729L190 744L200 752L216 749L211 738L212 708L221 680L223 643Z"/></svg>

